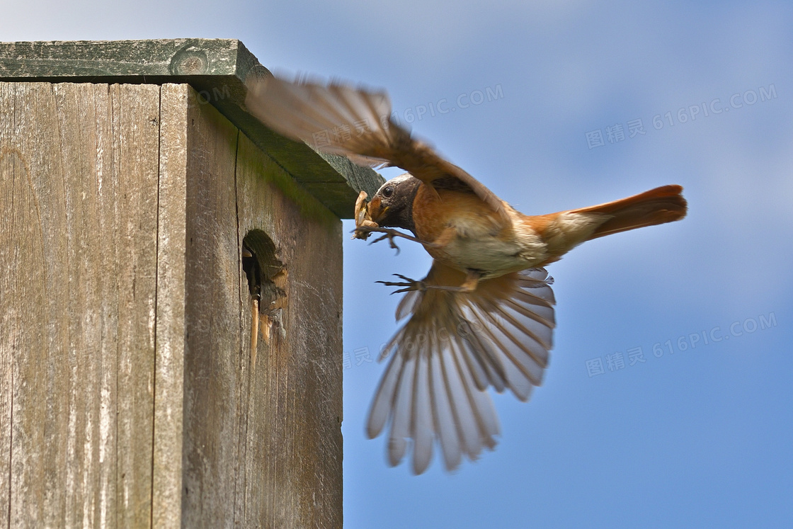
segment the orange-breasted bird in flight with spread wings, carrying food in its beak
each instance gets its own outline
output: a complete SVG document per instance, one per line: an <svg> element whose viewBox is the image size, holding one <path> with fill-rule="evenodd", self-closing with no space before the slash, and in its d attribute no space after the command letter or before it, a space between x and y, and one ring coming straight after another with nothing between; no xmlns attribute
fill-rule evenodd
<svg viewBox="0 0 793 529"><path fill-rule="evenodd" d="M404 236L432 257L425 278L382 282L404 293L396 316L405 322L383 348L380 359L390 359L366 421L370 439L389 426L389 465L412 450L416 474L427 470L435 445L449 471L496 447L490 388L527 401L542 384L556 325L547 265L585 241L687 213L683 188L666 185L525 215L399 125L383 90L274 75L246 84L248 112L282 136L361 165L407 171L368 202L362 192L354 237L385 232L381 239L393 244Z"/></svg>

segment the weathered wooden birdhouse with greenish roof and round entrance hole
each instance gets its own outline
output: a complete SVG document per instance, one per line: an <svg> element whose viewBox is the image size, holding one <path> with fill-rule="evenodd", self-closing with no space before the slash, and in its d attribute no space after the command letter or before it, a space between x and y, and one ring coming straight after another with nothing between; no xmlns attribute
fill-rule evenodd
<svg viewBox="0 0 793 529"><path fill-rule="evenodd" d="M0 512L341 527L342 240L382 180L238 40L0 44Z"/></svg>

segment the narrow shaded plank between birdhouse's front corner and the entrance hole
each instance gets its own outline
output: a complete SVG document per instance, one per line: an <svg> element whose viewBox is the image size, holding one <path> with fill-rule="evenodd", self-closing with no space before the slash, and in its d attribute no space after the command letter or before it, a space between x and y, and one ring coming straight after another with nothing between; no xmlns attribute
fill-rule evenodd
<svg viewBox="0 0 793 529"><path fill-rule="evenodd" d="M231 527L242 332L235 188L239 132L211 105L190 105L187 123L182 526Z"/></svg>

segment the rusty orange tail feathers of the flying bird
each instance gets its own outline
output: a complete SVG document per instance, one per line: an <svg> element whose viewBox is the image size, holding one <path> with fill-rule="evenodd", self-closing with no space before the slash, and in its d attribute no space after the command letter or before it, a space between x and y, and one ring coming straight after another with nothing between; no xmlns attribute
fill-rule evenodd
<svg viewBox="0 0 793 529"><path fill-rule="evenodd" d="M574 209L575 213L605 213L612 218L600 225L589 239L680 220L686 216L681 186L661 186L633 197Z"/></svg>

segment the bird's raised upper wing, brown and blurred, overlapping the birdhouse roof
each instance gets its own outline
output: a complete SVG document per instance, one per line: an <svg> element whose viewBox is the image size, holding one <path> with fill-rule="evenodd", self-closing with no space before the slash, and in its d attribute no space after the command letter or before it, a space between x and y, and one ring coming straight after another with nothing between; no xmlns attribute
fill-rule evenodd
<svg viewBox="0 0 793 529"><path fill-rule="evenodd" d="M355 163L401 167L431 186L469 189L507 215L496 194L394 123L384 91L289 82L272 75L251 76L246 84L247 109L275 132Z"/></svg>

